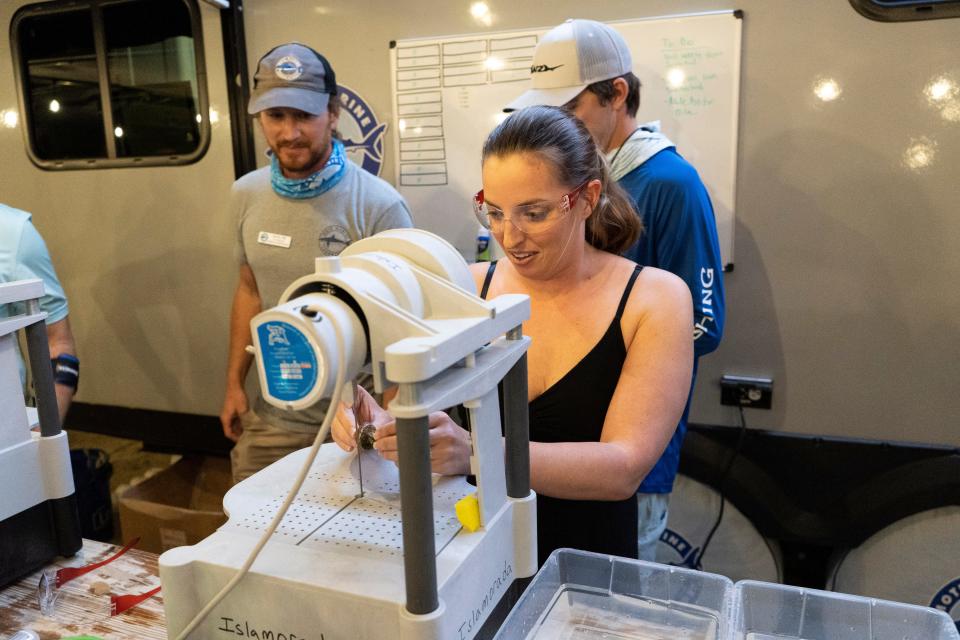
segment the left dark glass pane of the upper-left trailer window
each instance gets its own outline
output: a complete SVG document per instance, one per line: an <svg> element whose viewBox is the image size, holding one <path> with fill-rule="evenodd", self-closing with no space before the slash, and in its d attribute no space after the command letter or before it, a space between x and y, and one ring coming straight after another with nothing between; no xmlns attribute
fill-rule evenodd
<svg viewBox="0 0 960 640"><path fill-rule="evenodd" d="M26 18L18 37L34 153L42 160L106 156L90 11Z"/></svg>

